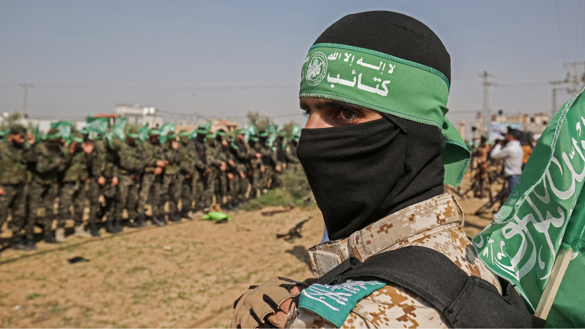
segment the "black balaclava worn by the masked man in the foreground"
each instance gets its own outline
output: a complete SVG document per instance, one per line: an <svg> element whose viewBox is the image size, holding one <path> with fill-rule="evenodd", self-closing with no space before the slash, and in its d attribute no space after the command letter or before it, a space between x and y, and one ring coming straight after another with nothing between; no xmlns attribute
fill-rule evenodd
<svg viewBox="0 0 585 329"><path fill-rule="evenodd" d="M315 43L339 43L435 68L450 80L450 57L426 25L396 12L347 15ZM381 113L362 124L302 129L297 157L332 240L443 193L441 129Z"/></svg>

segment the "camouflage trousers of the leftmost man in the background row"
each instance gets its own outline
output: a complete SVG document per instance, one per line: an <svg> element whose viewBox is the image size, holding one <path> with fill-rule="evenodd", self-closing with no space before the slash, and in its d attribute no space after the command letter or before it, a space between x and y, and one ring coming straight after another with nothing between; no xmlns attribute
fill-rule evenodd
<svg viewBox="0 0 585 329"><path fill-rule="evenodd" d="M12 209L12 221L9 227L16 238L20 237L26 220L26 184L2 185L4 196L0 196L0 227L8 218L8 210ZM20 227L20 229L18 229Z"/></svg>

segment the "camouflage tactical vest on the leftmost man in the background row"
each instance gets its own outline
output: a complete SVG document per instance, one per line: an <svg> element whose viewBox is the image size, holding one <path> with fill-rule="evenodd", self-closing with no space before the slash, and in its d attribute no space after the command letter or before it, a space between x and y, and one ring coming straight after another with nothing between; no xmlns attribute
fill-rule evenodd
<svg viewBox="0 0 585 329"><path fill-rule="evenodd" d="M8 142L0 142L0 184L15 185L26 182L24 150L11 148Z"/></svg>

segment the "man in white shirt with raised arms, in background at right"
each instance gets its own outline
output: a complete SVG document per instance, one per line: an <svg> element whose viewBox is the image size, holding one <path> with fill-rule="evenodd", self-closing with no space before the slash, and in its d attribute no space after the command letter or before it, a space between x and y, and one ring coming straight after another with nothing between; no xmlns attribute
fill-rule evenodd
<svg viewBox="0 0 585 329"><path fill-rule="evenodd" d="M524 158L524 149L518 140L519 131L514 128L508 128L503 140L491 150L492 159L504 159L504 176L508 179L508 190L512 193L514 186L522 173L522 159ZM502 146L505 144L504 148Z"/></svg>

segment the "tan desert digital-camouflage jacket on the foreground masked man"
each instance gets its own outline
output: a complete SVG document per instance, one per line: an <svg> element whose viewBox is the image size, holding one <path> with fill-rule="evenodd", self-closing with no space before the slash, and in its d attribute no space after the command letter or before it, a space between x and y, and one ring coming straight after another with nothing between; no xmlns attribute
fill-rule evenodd
<svg viewBox="0 0 585 329"><path fill-rule="evenodd" d="M468 275L501 286L477 259L463 232L463 210L450 194L442 194L404 208L354 232L349 238L328 241L309 249L316 277L350 256L365 261L377 253L404 246L426 246L443 253ZM299 309L291 328L336 328L318 314ZM450 328L431 303L398 285L387 285L358 301L341 328Z"/></svg>

